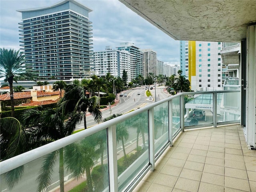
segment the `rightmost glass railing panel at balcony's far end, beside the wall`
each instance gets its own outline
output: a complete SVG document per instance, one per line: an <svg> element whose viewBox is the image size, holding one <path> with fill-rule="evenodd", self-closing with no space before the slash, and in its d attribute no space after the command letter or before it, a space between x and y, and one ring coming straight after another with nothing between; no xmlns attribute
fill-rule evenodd
<svg viewBox="0 0 256 192"><path fill-rule="evenodd" d="M240 120L240 92L219 93L218 98L223 102L217 106L218 122L228 122Z"/></svg>

